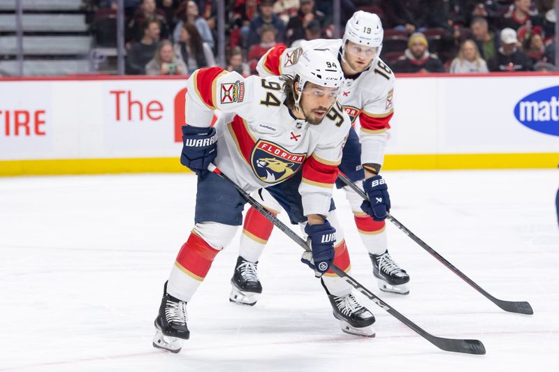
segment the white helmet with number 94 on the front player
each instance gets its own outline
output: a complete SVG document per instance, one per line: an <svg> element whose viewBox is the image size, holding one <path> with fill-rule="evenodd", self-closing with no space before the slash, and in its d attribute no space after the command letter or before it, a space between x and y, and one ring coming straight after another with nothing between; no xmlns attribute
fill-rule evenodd
<svg viewBox="0 0 559 372"><path fill-rule="evenodd" d="M342 85L344 73L336 57L326 49L310 49L304 52L295 65L295 76L299 77L298 97L299 105L301 94L307 82L321 87L339 88Z"/></svg>

